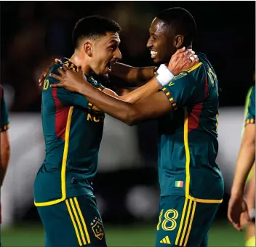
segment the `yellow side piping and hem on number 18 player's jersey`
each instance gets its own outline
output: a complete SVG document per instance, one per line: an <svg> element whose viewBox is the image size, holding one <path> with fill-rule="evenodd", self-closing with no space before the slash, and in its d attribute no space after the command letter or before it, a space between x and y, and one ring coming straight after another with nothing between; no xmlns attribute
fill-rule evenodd
<svg viewBox="0 0 256 247"><path fill-rule="evenodd" d="M191 181L191 174L189 170L190 162L191 162L191 155L189 151L189 145L188 145L188 110L187 108L184 108L185 111L185 119L184 119L184 146L185 146L185 197L196 201L198 203L222 203L223 199L200 199L200 198L193 198L189 194L189 185Z"/></svg>

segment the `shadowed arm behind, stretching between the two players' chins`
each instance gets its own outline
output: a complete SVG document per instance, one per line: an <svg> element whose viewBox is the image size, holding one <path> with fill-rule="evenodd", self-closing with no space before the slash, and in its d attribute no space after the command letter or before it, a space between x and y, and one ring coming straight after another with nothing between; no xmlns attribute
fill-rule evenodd
<svg viewBox="0 0 256 247"><path fill-rule="evenodd" d="M117 62L113 65L111 74L127 82L133 82L137 86L143 85L143 81L150 80L154 75L154 67L132 67Z"/></svg>

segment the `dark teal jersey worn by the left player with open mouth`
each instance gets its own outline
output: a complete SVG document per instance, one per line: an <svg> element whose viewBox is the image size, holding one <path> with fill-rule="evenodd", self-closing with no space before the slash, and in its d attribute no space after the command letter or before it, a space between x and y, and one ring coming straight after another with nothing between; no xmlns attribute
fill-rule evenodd
<svg viewBox="0 0 256 247"><path fill-rule="evenodd" d="M62 60L76 70L76 65ZM49 73L59 74L54 65ZM36 175L34 198L36 206L49 206L79 195L93 195L92 180L103 135L104 114L92 110L82 96L64 88L52 88L54 78L44 81L41 116L45 139L45 160ZM103 90L94 78L90 84Z"/></svg>

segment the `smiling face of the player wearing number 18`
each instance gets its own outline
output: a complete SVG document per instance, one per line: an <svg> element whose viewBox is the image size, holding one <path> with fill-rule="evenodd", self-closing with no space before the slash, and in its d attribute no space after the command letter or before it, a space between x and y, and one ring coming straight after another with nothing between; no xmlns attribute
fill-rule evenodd
<svg viewBox="0 0 256 247"><path fill-rule="evenodd" d="M151 51L153 62L167 63L177 50L177 41L175 33L167 25L155 18L149 29L150 38L148 39L147 47Z"/></svg>

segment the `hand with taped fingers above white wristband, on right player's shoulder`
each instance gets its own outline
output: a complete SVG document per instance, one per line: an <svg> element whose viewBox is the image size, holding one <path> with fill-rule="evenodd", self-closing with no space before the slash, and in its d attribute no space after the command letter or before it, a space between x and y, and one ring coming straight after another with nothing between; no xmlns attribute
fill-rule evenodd
<svg viewBox="0 0 256 247"><path fill-rule="evenodd" d="M193 67L193 65L196 65L198 61L199 58L192 49L185 49L185 47L183 47L177 49L175 54L172 55L168 68L175 76L177 76L184 70L188 70Z"/></svg>

